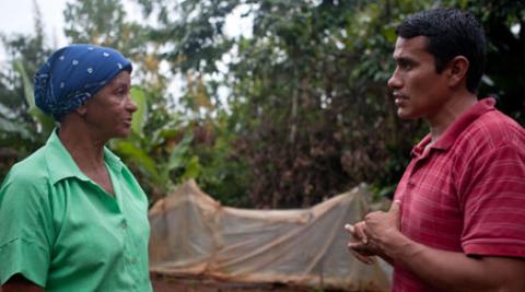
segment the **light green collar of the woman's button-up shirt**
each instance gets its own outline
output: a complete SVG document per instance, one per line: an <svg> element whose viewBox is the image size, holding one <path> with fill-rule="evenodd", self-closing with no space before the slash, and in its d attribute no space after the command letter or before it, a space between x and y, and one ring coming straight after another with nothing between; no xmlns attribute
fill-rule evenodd
<svg viewBox="0 0 525 292"><path fill-rule="evenodd" d="M63 147L55 129L46 142L46 161L48 165L49 178L51 184L56 184L65 178L75 177L80 180L91 180L71 157L69 151ZM122 163L120 159L104 147L104 161L108 168L115 173L120 173Z"/></svg>

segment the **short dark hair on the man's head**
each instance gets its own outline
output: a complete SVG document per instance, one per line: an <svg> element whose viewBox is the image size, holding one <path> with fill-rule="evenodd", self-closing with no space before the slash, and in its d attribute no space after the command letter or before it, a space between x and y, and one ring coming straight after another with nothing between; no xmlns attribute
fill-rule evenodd
<svg viewBox="0 0 525 292"><path fill-rule="evenodd" d="M467 90L475 93L485 70L485 32L472 14L457 9L432 9L408 16L396 28L402 38L428 37L427 50L434 56L435 71L456 56L468 59Z"/></svg>

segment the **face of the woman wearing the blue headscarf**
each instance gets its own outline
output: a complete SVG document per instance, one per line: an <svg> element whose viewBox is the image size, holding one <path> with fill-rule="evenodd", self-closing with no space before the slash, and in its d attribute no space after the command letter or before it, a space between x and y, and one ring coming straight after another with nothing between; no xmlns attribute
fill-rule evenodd
<svg viewBox="0 0 525 292"><path fill-rule="evenodd" d="M102 139L125 138L129 135L131 117L137 110L137 105L131 101L130 87L130 73L121 71L85 103L84 120Z"/></svg>

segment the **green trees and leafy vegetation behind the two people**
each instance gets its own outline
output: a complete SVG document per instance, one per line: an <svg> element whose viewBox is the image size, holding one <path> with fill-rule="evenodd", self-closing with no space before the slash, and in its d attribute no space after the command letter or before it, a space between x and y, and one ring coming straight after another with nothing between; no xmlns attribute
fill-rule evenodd
<svg viewBox="0 0 525 292"><path fill-rule="evenodd" d="M128 21L119 0L71 0L65 33L133 60L140 110L131 137L109 147L151 201L188 178L237 207L307 207L362 182L392 194L427 131L396 117L386 89L394 28L431 7L479 17L489 39L480 96L525 122L524 1L136 2L143 22ZM250 31L226 34L232 13L250 20ZM34 34L1 36L0 178L52 128L32 104L31 80L56 48L45 45L38 10L34 23Z"/></svg>

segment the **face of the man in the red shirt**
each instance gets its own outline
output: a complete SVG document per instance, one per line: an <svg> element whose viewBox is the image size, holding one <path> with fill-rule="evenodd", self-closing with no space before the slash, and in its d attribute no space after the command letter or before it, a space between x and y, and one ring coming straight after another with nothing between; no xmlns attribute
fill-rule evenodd
<svg viewBox="0 0 525 292"><path fill-rule="evenodd" d="M388 80L397 115L404 119L432 120L448 97L445 74L436 73L434 57L427 51L427 37L398 37L394 50L396 70Z"/></svg>

